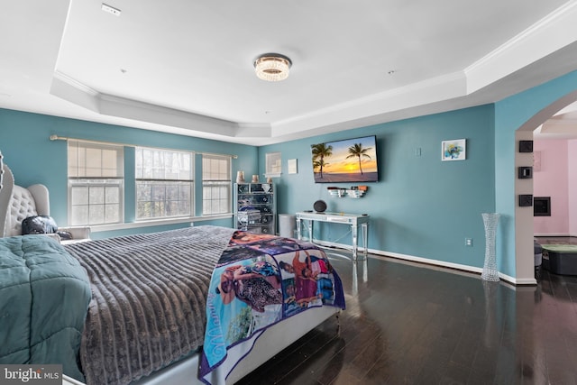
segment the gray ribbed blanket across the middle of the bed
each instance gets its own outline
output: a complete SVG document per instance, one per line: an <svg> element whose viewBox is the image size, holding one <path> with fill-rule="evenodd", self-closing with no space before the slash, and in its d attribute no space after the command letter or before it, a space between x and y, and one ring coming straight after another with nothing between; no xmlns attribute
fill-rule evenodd
<svg viewBox="0 0 577 385"><path fill-rule="evenodd" d="M127 384L203 344L210 277L233 233L198 226L65 246L92 286L80 347L88 385Z"/></svg>

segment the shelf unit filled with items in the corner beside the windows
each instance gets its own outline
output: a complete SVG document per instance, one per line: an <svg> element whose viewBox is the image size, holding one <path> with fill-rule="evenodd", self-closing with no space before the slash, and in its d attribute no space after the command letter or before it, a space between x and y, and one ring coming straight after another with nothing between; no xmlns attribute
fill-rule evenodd
<svg viewBox="0 0 577 385"><path fill-rule="evenodd" d="M234 184L234 222L239 230L276 234L276 201L272 183Z"/></svg>

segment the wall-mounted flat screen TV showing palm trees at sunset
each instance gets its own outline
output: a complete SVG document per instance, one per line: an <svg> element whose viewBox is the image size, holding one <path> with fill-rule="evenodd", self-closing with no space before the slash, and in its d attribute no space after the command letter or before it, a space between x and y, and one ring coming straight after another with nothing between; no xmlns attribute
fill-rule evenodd
<svg viewBox="0 0 577 385"><path fill-rule="evenodd" d="M316 183L362 183L379 180L377 140L373 136L311 145Z"/></svg>

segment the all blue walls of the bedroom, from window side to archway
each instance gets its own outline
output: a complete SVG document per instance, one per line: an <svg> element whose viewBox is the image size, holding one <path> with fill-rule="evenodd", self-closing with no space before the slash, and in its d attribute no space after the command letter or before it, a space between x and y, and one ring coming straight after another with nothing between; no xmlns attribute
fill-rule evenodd
<svg viewBox="0 0 577 385"><path fill-rule="evenodd" d="M244 170L246 176L264 174L266 153L280 151L282 175L275 179L279 213L312 209L317 199L324 199L329 211L371 215L371 249L481 268L481 213L497 211L503 215L498 235L499 270L515 277L515 131L547 105L576 89L577 72L572 72L495 105L260 148L0 109L0 151L14 170L17 183L43 183L50 188L51 214L60 225L67 221L66 142L50 142L50 134L235 154L238 159L233 161L233 177L236 170ZM359 199L329 197L327 185L314 183L310 145L373 134L378 141L379 182L369 183L367 195ZM441 161L441 142L453 139L467 140L467 159ZM288 174L289 159L298 160L298 174ZM199 164L197 161L197 167ZM200 193L197 184L197 196ZM197 201L197 213L199 205ZM232 220L207 223L232 225ZM132 229L124 234L172 227ZM329 241L349 243L346 226L325 225L320 231ZM98 236L114 234L118 232ZM472 247L464 245L465 237L473 239Z"/></svg>

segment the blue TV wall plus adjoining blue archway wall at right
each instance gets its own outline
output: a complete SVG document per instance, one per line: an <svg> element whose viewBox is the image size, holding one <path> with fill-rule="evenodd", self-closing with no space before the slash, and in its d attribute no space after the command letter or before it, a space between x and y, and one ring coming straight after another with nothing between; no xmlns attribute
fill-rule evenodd
<svg viewBox="0 0 577 385"><path fill-rule="evenodd" d="M555 101L574 101L576 90L573 71L495 105L261 147L261 173L265 154L281 151L279 213L311 209L316 199L324 199L328 210L371 215L371 249L446 263L482 267L481 213L499 212L499 271L516 277L515 132ZM531 129L555 111L549 112ZM325 185L313 182L310 145L369 134L378 138L380 181L370 184L368 194L358 200L329 197ZM440 142L460 138L467 139L467 160L441 161ZM298 159L298 174L287 174L289 159ZM338 225L325 225L319 236L338 243L349 239ZM473 238L473 247L464 246L465 237Z"/></svg>

